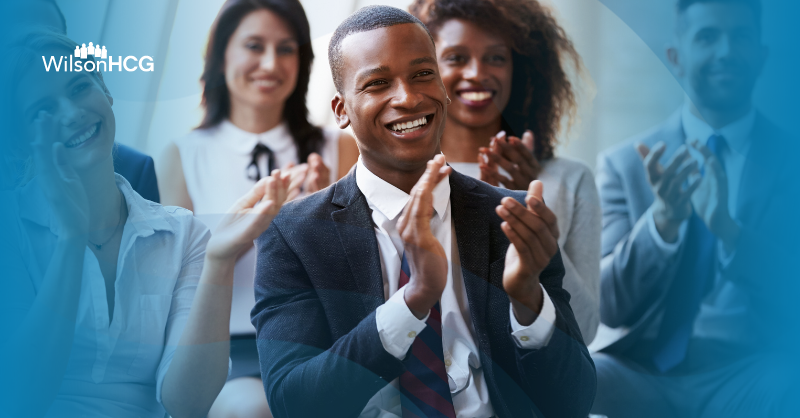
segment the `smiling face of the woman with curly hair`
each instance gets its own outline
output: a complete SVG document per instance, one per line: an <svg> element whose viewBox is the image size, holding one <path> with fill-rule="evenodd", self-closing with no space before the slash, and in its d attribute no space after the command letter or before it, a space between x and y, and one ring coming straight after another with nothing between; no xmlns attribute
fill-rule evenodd
<svg viewBox="0 0 800 418"><path fill-rule="evenodd" d="M436 35L439 70L453 103L451 123L470 128L497 124L511 96L513 65L506 41L461 19L446 21Z"/></svg>

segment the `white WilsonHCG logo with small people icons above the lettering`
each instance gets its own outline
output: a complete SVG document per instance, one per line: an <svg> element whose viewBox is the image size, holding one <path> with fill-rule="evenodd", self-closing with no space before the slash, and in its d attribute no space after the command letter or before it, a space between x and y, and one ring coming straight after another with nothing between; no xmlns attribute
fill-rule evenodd
<svg viewBox="0 0 800 418"><path fill-rule="evenodd" d="M124 59L121 55L114 57L109 54L105 45L95 45L94 42L89 42L89 46L86 46L85 43L80 46L75 45L75 52L70 56L51 56L49 60L48 57L42 56L42 62L47 72L50 72L50 70L58 72L112 72L114 67L117 68L117 71L124 70L127 72L137 70L151 72L155 70L153 57L147 55L140 58L129 55Z"/></svg>

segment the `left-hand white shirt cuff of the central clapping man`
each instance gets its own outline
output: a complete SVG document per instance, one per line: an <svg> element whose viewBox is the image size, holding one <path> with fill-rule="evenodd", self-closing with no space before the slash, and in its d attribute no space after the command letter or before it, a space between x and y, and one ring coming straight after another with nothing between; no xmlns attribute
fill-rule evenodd
<svg viewBox="0 0 800 418"><path fill-rule="evenodd" d="M406 357L417 334L425 329L425 321L430 315L429 312L424 319L417 319L406 305L405 290L403 287L394 292L394 295L375 311L375 323L378 325L381 344L386 352L398 360Z"/></svg>

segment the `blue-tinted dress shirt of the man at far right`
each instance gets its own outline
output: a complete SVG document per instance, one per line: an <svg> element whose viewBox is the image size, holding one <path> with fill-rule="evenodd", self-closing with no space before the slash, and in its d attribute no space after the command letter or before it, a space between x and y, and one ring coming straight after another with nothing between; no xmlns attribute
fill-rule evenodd
<svg viewBox="0 0 800 418"><path fill-rule="evenodd" d="M728 179L728 210L731 218L737 220L736 212L739 199L739 185L742 171L747 161L750 150L751 134L756 120L756 111L752 109L743 118L734 121L721 129L715 130L708 123L697 117L690 110L687 103L681 110L681 124L686 134L687 144L697 139L706 145L712 135L720 135L725 139L727 147L723 148L720 155L725 166ZM692 155L703 163L703 156L689 148ZM656 245L669 257L674 255L684 242L688 221L683 221L679 229L678 240L674 243L665 242L656 229L652 210L645 215L648 230ZM733 259L734 254L728 254L720 241L717 241L717 262L726 265ZM717 269L714 285L700 305L700 313L694 324L694 336L700 338L716 339L741 344L752 344L754 333L763 326L753 317L750 309L750 295L740 286L722 279ZM750 330L752 332L745 332Z"/></svg>

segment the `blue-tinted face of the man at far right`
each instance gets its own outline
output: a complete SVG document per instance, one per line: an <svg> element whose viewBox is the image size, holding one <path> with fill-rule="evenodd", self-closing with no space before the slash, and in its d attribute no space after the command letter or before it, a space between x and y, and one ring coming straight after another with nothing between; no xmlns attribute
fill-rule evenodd
<svg viewBox="0 0 800 418"><path fill-rule="evenodd" d="M742 3L695 3L684 11L677 46L668 56L697 105L749 105L767 56L753 14Z"/></svg>

